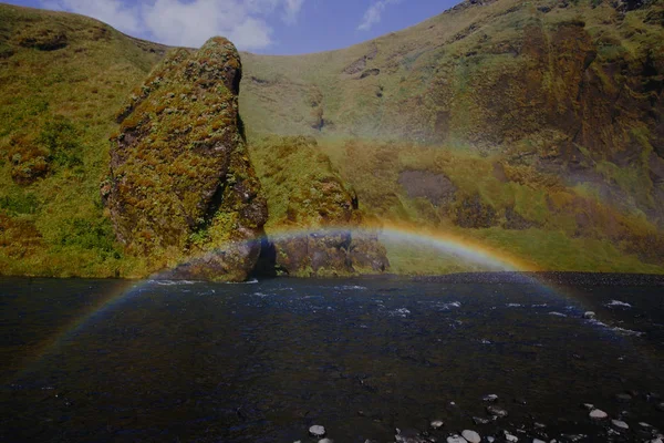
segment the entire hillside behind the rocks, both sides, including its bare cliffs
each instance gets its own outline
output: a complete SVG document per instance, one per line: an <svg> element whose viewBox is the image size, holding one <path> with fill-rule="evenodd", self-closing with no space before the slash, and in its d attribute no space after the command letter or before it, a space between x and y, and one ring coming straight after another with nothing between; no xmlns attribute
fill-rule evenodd
<svg viewBox="0 0 664 443"><path fill-rule="evenodd" d="M268 234L333 224L356 193L364 222L533 268L664 274L663 23L661 0L473 0L339 51L241 53ZM115 116L166 50L0 4L0 274L155 270L115 240L100 185ZM386 246L393 271L459 270Z"/></svg>

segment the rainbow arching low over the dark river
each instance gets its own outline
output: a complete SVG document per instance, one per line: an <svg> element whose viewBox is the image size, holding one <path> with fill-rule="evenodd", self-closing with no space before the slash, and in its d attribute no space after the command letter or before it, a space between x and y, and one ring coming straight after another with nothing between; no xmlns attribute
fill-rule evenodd
<svg viewBox="0 0 664 443"><path fill-rule="evenodd" d="M250 241L257 241L262 239L279 240L286 238L298 238L310 235L334 235L334 234L347 234L359 236L378 236L380 239L384 240L396 240L403 241L413 246L426 246L439 250L442 256L452 255L460 257L469 262L475 262L487 267L490 270L502 270L502 271L536 271L539 270L532 264L512 256L508 253L492 249L485 245L480 245L477 241L468 239L457 234L443 233L429 230L422 227L415 227L409 225L397 225L397 224L384 224L380 226L362 226L362 227L325 227L322 229L304 229L304 228L279 228L270 231L262 238L256 238ZM220 247L219 249L222 249ZM100 316L103 311L107 310L112 306L116 305L121 300L125 300L132 296L136 296L147 285L158 282L158 280L147 279L139 281L127 280L126 285L122 285L120 291L110 293L107 297L101 299L96 305L92 306L86 313L77 317L70 323L63 326L54 334L54 338L46 340L42 343L30 361L24 362L23 367L28 367L30 363L41 360L49 351L58 348L66 337L72 333L80 331L85 324L92 321L95 317ZM535 278L528 279L541 287L552 289L542 281L538 281ZM162 284L169 284L168 280L164 280ZM559 293L556 289L553 292Z"/></svg>

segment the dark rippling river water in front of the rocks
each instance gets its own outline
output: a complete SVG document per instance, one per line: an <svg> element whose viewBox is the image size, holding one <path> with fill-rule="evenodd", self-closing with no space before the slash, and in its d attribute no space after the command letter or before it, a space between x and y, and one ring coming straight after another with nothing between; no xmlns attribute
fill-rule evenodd
<svg viewBox="0 0 664 443"><path fill-rule="evenodd" d="M438 441L464 429L646 441L656 433L639 422L664 430L649 395L664 394L663 298L661 286L395 278L4 279L0 440L309 442L322 424L336 442L390 442L440 419ZM475 424L486 394L509 415Z"/></svg>

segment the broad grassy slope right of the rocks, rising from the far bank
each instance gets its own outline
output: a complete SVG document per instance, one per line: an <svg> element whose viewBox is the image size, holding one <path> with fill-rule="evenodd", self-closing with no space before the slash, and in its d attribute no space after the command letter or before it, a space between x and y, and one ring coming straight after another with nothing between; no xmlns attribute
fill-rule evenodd
<svg viewBox="0 0 664 443"><path fill-rule="evenodd" d="M664 51L664 30L649 19L650 12L662 12L662 2L624 19L606 1L579 0L568 8L558 3L460 6L344 50L242 54L240 110L250 140L261 133L318 137L321 151L357 190L362 208L386 220L454 231L543 269L664 272L662 185L656 194L644 161L653 151L649 140L656 135L643 116L623 112L613 133L601 130L606 122L571 119L582 134L590 134L573 143L579 172L568 163L577 157L546 163L551 152L563 150L557 143L566 146L562 128L569 122L549 125L557 110L540 112L560 104L593 116L602 112L600 106L621 106L604 103L602 95L609 97L616 82L626 91L634 85L606 72L615 65L639 70L633 66L649 53ZM538 32L543 43L531 37ZM600 78L595 83L601 81L604 91L578 111L580 105L566 102L578 87L566 75L581 51L573 42L585 35L598 49L591 75ZM549 64L533 64L542 51ZM374 69L377 75L371 75ZM522 76L526 71L535 76ZM363 72L367 75L362 79ZM496 87L502 83L504 89ZM634 87L630 93L647 96ZM453 112L439 127L437 113L445 110ZM595 127L600 134L593 133ZM629 164L615 161L630 150L635 158ZM407 171L449 178L456 187L454 200L440 205L409 196L398 183ZM468 209L476 197L479 212L486 209L492 219L488 226L464 228L478 216ZM521 226L510 226L512 214ZM436 254L400 246L391 248L390 259L396 271L458 270L449 260L434 259Z"/></svg>

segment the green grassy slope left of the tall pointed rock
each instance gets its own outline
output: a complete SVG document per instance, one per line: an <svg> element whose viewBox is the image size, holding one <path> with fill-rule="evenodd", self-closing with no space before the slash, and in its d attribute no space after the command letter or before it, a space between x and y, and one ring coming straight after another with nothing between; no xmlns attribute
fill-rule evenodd
<svg viewBox="0 0 664 443"><path fill-rule="evenodd" d="M64 33L68 45L21 45L49 33ZM3 4L0 45L0 274L139 274L114 243L98 189L114 114L165 48L93 19ZM35 153L50 172L18 185L12 161Z"/></svg>

